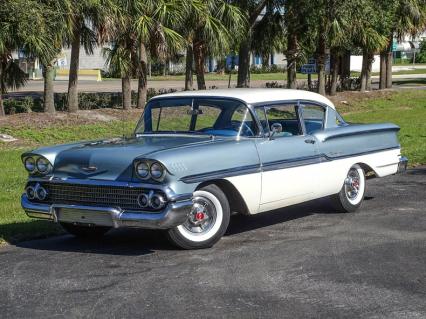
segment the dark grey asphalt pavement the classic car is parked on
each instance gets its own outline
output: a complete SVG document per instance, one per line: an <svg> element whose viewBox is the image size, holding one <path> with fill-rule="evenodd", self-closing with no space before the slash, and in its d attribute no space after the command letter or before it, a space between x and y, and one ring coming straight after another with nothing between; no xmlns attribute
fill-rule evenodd
<svg viewBox="0 0 426 319"><path fill-rule="evenodd" d="M159 232L0 248L1 318L426 318L426 167L324 201L233 216L207 250Z"/></svg>

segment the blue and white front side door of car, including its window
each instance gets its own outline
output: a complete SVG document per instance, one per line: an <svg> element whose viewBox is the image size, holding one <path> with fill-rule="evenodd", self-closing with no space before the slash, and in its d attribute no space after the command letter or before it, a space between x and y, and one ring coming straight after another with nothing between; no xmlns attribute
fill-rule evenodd
<svg viewBox="0 0 426 319"><path fill-rule="evenodd" d="M315 164L320 158L316 139L307 135L299 103L274 104L256 109L266 133L257 140L262 167L260 211L272 210L315 197ZM272 127L281 132L272 133Z"/></svg>

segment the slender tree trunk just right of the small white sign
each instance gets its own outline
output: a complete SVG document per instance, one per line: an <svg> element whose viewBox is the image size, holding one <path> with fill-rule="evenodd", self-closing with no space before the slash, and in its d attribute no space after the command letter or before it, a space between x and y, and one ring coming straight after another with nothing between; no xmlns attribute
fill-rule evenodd
<svg viewBox="0 0 426 319"><path fill-rule="evenodd" d="M71 63L68 81L68 112L78 111L78 68L80 63L80 25L76 25L71 42Z"/></svg>

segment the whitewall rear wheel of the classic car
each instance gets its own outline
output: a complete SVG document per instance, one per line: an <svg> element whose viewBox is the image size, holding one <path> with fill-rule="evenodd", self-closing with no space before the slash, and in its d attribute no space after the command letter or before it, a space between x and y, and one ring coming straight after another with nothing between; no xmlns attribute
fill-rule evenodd
<svg viewBox="0 0 426 319"><path fill-rule="evenodd" d="M349 169L342 189L334 196L334 206L338 211L352 213L361 206L364 194L364 170L356 164Z"/></svg>

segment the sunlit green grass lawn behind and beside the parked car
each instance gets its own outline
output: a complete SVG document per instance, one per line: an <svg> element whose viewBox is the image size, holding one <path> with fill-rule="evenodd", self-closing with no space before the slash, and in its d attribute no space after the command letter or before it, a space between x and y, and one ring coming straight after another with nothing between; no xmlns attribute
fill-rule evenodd
<svg viewBox="0 0 426 319"><path fill-rule="evenodd" d="M410 164L426 164L426 91L404 90L380 98L356 95L349 105L338 105L344 118L351 122L392 122L401 126L399 133L404 155ZM0 243L14 243L61 232L53 223L28 218L20 207L27 174L20 154L37 145L90 140L131 132L135 120L111 121L92 125L53 125L42 129L1 127L0 133L20 138L19 148L0 143Z"/></svg>

